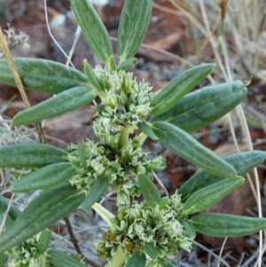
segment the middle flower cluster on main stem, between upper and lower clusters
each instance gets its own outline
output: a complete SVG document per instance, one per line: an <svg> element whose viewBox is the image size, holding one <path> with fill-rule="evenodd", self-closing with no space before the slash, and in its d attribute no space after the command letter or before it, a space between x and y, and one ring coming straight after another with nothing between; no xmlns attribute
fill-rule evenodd
<svg viewBox="0 0 266 267"><path fill-rule="evenodd" d="M81 158L83 150L83 160ZM141 173L153 178L153 171L165 168L165 160L158 156L148 160L139 145L138 137L129 139L121 149L87 140L80 145L71 145L69 160L76 169L70 182L78 190L90 192L100 176L109 177L110 185L117 193L117 204L129 204L130 197L140 195L137 177Z"/></svg>

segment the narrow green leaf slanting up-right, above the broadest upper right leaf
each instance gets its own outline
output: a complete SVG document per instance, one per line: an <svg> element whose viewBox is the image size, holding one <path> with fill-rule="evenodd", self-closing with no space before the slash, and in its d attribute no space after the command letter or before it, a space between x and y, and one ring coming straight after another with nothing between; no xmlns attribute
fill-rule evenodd
<svg viewBox="0 0 266 267"><path fill-rule="evenodd" d="M209 75L214 67L214 64L200 65L176 76L152 99L151 107L153 110L151 114L159 115L168 111L179 99L183 98L194 86Z"/></svg>

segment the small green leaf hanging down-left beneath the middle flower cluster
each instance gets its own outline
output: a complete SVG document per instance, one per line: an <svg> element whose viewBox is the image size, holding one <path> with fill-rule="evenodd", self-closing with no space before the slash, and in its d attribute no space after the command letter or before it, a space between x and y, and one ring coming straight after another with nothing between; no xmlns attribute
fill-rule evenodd
<svg viewBox="0 0 266 267"><path fill-rule="evenodd" d="M82 202L81 208L90 208L99 198L106 192L109 185L109 178L106 176L98 177L95 183L92 185L89 194Z"/></svg>

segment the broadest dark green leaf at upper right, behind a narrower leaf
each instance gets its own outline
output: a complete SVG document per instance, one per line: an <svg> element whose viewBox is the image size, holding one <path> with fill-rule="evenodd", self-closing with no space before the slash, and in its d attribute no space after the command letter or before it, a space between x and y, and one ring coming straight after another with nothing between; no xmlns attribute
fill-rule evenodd
<svg viewBox="0 0 266 267"><path fill-rule="evenodd" d="M193 132L215 122L246 98L243 82L225 82L195 90L180 99L167 112L153 116L150 122L169 122Z"/></svg>

